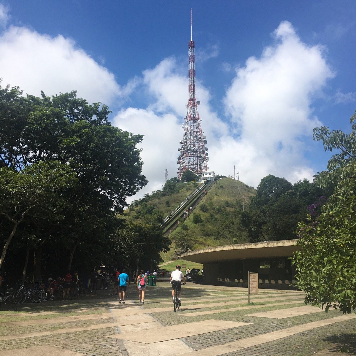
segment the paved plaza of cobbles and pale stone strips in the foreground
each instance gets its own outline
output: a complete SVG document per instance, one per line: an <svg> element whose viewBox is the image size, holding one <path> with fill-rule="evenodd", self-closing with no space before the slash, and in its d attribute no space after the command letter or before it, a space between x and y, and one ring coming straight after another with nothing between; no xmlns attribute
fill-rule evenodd
<svg viewBox="0 0 356 356"><path fill-rule="evenodd" d="M174 313L171 285L112 290L82 300L21 304L0 312L0 356L233 356L356 354L356 315L303 303L303 293L188 283Z"/></svg>

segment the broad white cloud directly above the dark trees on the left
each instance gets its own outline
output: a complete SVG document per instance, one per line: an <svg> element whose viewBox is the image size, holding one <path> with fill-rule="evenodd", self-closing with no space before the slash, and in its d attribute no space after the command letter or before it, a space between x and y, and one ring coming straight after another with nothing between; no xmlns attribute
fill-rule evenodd
<svg viewBox="0 0 356 356"><path fill-rule="evenodd" d="M28 94L77 90L93 103L112 103L120 86L114 74L94 61L70 38L50 37L26 27L10 27L0 36L0 78Z"/></svg>

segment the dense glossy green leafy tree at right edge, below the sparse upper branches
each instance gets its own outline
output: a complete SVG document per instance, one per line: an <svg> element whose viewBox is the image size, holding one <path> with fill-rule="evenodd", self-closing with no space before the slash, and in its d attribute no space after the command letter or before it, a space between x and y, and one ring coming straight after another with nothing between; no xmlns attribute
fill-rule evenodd
<svg viewBox="0 0 356 356"><path fill-rule="evenodd" d="M356 163L338 168L343 177L334 194L314 220L299 223L293 256L298 288L305 302L328 311L356 309Z"/></svg>

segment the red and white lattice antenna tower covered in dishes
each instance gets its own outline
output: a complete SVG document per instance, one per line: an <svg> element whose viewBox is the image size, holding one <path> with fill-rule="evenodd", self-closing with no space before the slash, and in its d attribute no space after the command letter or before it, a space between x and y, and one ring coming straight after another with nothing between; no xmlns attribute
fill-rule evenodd
<svg viewBox="0 0 356 356"><path fill-rule="evenodd" d="M208 143L203 135L200 126L200 117L198 113L198 105L200 101L195 98L195 56L193 41L193 10L190 10L190 41L189 41L189 100L187 107L187 116L184 128L183 140L179 141L181 147L178 148L179 156L177 164L179 164L178 178L182 178L183 172L190 170L195 174L200 175L206 171L209 154L208 148L205 145Z"/></svg>

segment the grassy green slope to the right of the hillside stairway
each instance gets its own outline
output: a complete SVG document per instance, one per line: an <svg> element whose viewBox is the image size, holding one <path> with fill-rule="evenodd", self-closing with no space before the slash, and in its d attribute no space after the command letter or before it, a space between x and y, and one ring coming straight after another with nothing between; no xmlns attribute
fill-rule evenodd
<svg viewBox="0 0 356 356"><path fill-rule="evenodd" d="M254 188L238 180L219 179L169 238L192 241L194 249L247 242L240 226L240 214L255 194Z"/></svg>

